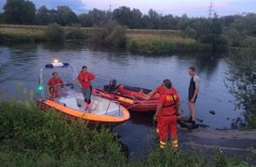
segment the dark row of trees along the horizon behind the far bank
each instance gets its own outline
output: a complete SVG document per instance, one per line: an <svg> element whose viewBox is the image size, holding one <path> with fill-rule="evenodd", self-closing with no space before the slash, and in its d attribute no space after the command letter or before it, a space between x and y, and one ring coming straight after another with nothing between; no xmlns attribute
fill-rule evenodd
<svg viewBox="0 0 256 167"><path fill-rule="evenodd" d="M75 25L92 27L102 25L109 20L117 20L120 25L130 29L181 30L185 38L199 40L210 44L213 50L225 50L228 47L256 47L256 14L244 13L213 18L188 18L171 14L162 15L150 9L142 14L139 9L126 6L113 11L93 9L88 13L77 15L68 6L48 9L26 0L7 0L4 12L0 13L0 23L13 25Z"/></svg>

